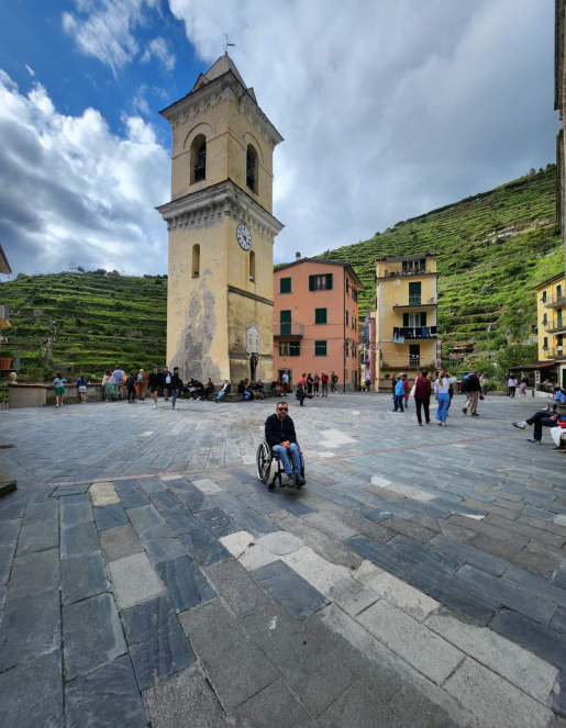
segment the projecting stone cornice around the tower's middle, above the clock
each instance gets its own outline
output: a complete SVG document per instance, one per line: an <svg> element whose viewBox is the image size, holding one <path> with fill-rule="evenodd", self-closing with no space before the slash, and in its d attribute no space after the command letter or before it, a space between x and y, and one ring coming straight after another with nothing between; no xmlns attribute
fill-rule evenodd
<svg viewBox="0 0 566 728"><path fill-rule="evenodd" d="M284 228L277 217L230 179L171 200L156 210L167 222L168 231L200 228L220 222L224 216L246 223L262 237L271 242Z"/></svg>

